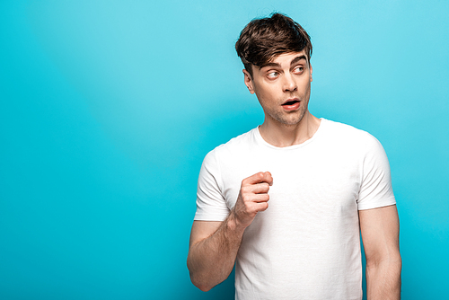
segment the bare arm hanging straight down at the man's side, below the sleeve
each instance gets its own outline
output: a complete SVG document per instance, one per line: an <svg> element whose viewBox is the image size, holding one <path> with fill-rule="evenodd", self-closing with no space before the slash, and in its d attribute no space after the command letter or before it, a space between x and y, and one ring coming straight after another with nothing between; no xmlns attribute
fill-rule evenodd
<svg viewBox="0 0 449 300"><path fill-rule="evenodd" d="M368 300L401 299L399 217L395 205L359 210Z"/></svg>

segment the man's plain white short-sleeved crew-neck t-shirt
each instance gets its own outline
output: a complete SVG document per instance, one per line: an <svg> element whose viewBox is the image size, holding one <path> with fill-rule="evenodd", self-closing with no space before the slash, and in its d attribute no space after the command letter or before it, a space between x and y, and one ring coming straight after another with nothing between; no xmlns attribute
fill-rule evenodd
<svg viewBox="0 0 449 300"><path fill-rule="evenodd" d="M327 119L295 146L272 146L254 128L207 154L195 220L225 220L242 180L267 171L269 208L243 234L235 298L362 299L358 210L396 203L383 146Z"/></svg>

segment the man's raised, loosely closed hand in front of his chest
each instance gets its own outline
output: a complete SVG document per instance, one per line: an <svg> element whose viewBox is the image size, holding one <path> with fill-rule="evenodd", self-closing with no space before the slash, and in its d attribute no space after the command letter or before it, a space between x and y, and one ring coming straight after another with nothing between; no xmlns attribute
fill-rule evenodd
<svg viewBox="0 0 449 300"><path fill-rule="evenodd" d="M231 214L237 226L251 225L257 213L269 207L269 186L273 184L270 172L258 172L242 181L239 197Z"/></svg>

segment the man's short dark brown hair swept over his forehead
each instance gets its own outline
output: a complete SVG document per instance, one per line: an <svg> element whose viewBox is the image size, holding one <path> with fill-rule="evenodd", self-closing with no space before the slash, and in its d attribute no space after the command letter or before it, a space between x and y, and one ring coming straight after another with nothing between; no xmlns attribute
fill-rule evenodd
<svg viewBox="0 0 449 300"><path fill-rule="evenodd" d="M272 13L267 18L249 22L240 32L235 50L245 69L252 75L251 65L264 66L273 57L283 53L305 50L310 63L312 43L300 24L285 14Z"/></svg>

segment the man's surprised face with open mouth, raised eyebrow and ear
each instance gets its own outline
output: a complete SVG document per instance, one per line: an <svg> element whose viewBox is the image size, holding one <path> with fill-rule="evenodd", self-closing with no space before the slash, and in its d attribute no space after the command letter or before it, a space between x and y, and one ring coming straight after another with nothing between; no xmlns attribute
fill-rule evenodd
<svg viewBox="0 0 449 300"><path fill-rule="evenodd" d="M312 66L304 51L274 57L266 66L243 70L250 93L256 93L267 125L296 125L308 110Z"/></svg>

